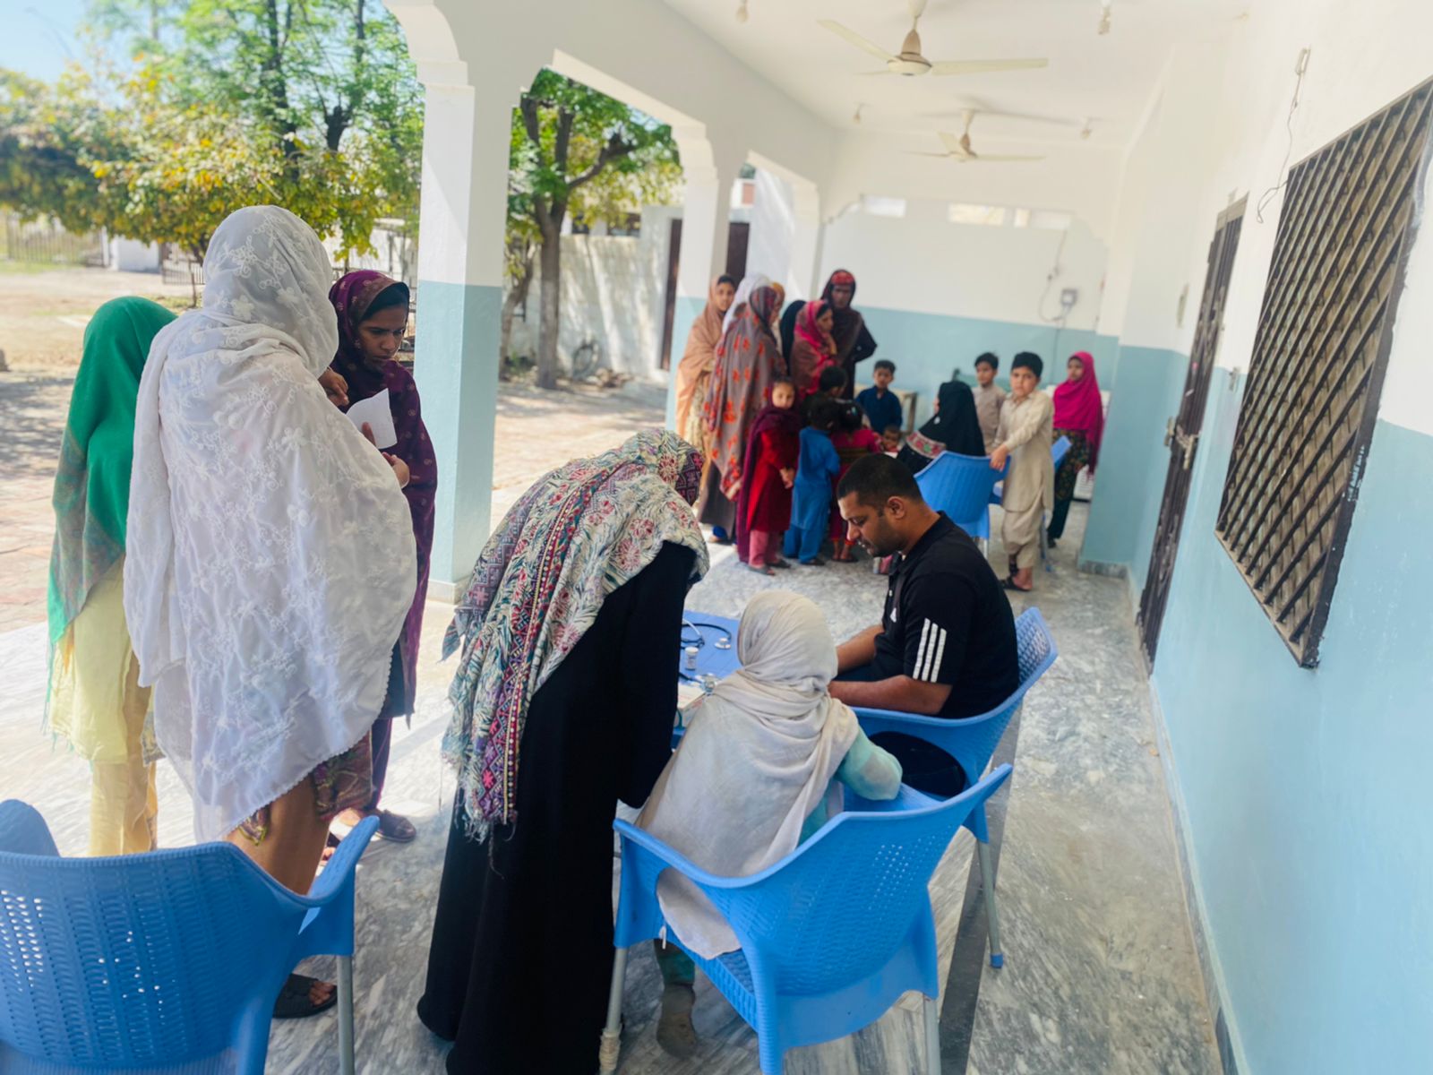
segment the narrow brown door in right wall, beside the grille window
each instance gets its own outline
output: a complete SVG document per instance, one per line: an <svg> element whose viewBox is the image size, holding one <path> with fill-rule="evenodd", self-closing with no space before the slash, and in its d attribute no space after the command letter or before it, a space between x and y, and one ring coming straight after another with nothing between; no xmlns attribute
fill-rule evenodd
<svg viewBox="0 0 1433 1075"><path fill-rule="evenodd" d="M1179 403L1179 414L1169 419L1169 427L1165 433L1165 444L1169 446L1169 470L1165 476L1164 500L1159 505L1155 548L1149 553L1145 592L1139 596L1139 638L1151 666L1155 662L1159 625L1164 622L1169 583L1174 579L1179 530L1184 526L1184 512L1189 500L1189 477L1194 473L1194 456L1199 447L1199 429L1204 424L1204 403L1209 396L1209 377L1214 374L1214 358L1219 350L1219 334L1224 330L1224 301L1230 292L1230 275L1234 271L1234 252L1240 245L1242 222L1242 199L1219 214L1214 229L1214 242L1209 244L1209 264L1204 274L1204 297L1199 300L1199 321L1194 330L1194 347L1189 351L1189 373L1184 381L1184 398Z"/></svg>

